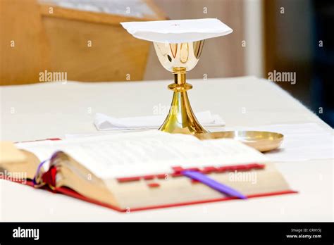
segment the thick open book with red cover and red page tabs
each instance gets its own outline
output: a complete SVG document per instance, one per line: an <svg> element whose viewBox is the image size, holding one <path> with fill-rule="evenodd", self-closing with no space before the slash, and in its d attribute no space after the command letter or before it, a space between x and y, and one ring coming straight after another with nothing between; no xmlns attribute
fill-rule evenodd
<svg viewBox="0 0 334 245"><path fill-rule="evenodd" d="M147 131L6 147L0 172L23 171L35 187L117 211L235 199L184 176L184 170L248 197L294 192L262 153L233 139Z"/></svg>

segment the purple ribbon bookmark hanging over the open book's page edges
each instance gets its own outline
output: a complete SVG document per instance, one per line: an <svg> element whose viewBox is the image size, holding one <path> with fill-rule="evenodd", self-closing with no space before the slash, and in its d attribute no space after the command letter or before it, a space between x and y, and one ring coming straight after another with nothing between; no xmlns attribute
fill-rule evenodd
<svg viewBox="0 0 334 245"><path fill-rule="evenodd" d="M203 184L206 184L208 187L211 187L212 189L216 189L217 191L221 191L223 194L227 194L228 196L235 196L240 199L247 199L247 196L242 195L239 191L236 191L235 189L228 187L225 184L221 184L219 182L216 182L216 180L212 180L211 178L207 177L206 175L203 175L201 172L192 171L192 170L185 170L182 171L182 174L192 178L193 180L197 180L199 182L202 182Z"/></svg>

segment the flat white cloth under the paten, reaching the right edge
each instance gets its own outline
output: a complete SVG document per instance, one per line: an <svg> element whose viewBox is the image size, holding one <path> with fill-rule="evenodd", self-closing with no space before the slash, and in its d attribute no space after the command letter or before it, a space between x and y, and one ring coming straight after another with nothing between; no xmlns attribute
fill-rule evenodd
<svg viewBox="0 0 334 245"><path fill-rule="evenodd" d="M307 161L333 158L333 131L324 130L316 123L228 127L225 130L256 130L284 134L283 144L280 148L266 153L271 161Z"/></svg>

